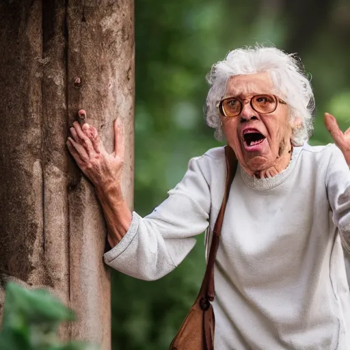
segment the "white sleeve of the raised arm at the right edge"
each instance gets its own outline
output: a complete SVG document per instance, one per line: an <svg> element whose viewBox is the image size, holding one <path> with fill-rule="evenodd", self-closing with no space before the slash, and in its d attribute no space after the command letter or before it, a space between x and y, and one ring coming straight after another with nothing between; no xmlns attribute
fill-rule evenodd
<svg viewBox="0 0 350 350"><path fill-rule="evenodd" d="M326 176L327 195L342 244L350 251L350 170L341 150L336 146L332 147L334 151Z"/></svg>

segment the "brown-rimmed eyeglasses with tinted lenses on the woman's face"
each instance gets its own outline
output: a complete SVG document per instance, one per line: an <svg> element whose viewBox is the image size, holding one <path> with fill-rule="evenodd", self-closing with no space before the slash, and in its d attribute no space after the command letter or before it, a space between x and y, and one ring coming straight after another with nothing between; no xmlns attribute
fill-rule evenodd
<svg viewBox="0 0 350 350"><path fill-rule="evenodd" d="M254 111L267 114L272 113L278 106L278 103L286 105L286 103L275 95L256 95L251 98L245 98L244 100L250 100L250 106ZM217 108L221 116L224 117L236 117L243 109L243 101L237 97L223 98L218 104Z"/></svg>

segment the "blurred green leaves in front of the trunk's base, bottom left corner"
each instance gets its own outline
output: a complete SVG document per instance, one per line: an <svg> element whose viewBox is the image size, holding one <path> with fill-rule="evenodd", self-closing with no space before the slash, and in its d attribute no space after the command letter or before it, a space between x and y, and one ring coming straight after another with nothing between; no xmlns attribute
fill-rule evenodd
<svg viewBox="0 0 350 350"><path fill-rule="evenodd" d="M60 323L74 321L74 313L44 290L31 290L8 283L6 286L1 350L93 350L78 342L61 344Z"/></svg>

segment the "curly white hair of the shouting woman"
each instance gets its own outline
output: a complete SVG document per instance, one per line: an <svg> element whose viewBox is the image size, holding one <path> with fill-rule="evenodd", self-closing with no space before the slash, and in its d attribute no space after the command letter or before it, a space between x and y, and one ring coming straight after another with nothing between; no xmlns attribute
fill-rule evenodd
<svg viewBox="0 0 350 350"><path fill-rule="evenodd" d="M294 146L301 146L308 141L314 129L314 94L299 57L275 47L256 45L235 49L228 53L224 61L212 66L206 76L210 85L204 111L206 124L216 129L216 139L223 139L217 103L225 95L228 79L258 72L269 72L275 89L284 97L290 109L291 142ZM301 120L301 125L295 123L297 118Z"/></svg>

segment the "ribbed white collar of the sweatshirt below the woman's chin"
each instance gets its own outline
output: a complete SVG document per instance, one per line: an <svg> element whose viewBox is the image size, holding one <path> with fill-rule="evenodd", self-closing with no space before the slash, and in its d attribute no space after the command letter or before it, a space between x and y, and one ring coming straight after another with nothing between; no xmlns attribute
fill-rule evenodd
<svg viewBox="0 0 350 350"><path fill-rule="evenodd" d="M239 165L239 170L241 172L243 182L248 187L256 189L258 191L266 191L267 189L272 189L273 187L280 185L284 180L286 180L291 172L293 172L302 148L303 146L294 147L291 161L289 162L286 169L282 170L282 172L278 173L275 176L272 176L271 178L256 178L256 176L250 176L245 172L245 170L243 170L243 167Z"/></svg>

